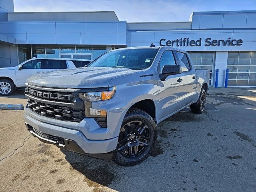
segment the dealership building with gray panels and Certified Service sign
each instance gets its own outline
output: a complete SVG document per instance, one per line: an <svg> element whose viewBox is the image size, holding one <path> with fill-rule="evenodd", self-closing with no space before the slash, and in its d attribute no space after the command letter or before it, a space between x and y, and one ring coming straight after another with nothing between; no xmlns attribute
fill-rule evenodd
<svg viewBox="0 0 256 192"><path fill-rule="evenodd" d="M32 57L94 60L108 50L130 46L186 50L210 83L256 86L256 11L193 12L185 22L128 23L107 12L14 12L0 0L0 67Z"/></svg>

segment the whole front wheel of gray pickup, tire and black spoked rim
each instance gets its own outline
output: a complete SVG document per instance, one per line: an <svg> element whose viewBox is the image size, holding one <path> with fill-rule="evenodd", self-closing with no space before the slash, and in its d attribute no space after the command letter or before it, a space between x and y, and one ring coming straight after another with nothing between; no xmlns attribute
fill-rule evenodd
<svg viewBox="0 0 256 192"><path fill-rule="evenodd" d="M150 155L157 140L156 123L140 109L132 108L124 116L113 161L134 166Z"/></svg>

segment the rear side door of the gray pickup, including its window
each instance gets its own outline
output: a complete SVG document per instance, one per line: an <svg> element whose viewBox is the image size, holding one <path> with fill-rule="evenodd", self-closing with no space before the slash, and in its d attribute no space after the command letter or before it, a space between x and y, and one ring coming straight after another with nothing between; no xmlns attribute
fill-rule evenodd
<svg viewBox="0 0 256 192"><path fill-rule="evenodd" d="M183 102L184 106L194 100L196 94L196 71L192 67L187 54L176 51L183 79Z"/></svg>

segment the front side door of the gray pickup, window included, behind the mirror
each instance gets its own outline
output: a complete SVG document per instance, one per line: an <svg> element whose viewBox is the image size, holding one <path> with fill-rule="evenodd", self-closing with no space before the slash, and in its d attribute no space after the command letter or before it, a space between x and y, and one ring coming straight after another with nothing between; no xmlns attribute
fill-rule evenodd
<svg viewBox="0 0 256 192"><path fill-rule="evenodd" d="M164 65L176 65L172 50L165 50L158 63L158 73L162 74ZM180 109L180 101L183 94L182 74L168 76L165 80L159 80L159 118L165 118Z"/></svg>

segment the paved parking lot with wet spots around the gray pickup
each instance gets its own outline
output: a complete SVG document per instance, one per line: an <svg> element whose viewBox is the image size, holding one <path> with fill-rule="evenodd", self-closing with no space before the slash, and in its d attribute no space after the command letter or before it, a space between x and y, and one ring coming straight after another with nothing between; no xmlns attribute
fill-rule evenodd
<svg viewBox="0 0 256 192"><path fill-rule="evenodd" d="M23 92L0 103L26 104ZM30 136L23 111L0 110L3 192L256 191L256 88L211 88L203 114L190 108L158 125L150 157L121 167Z"/></svg>

